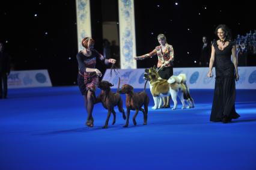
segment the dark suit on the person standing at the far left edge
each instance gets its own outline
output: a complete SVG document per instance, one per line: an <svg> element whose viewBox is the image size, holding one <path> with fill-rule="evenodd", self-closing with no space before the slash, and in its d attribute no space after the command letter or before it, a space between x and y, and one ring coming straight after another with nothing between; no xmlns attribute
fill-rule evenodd
<svg viewBox="0 0 256 170"><path fill-rule="evenodd" d="M10 73L10 56L0 52L0 99L7 97L7 75Z"/></svg>

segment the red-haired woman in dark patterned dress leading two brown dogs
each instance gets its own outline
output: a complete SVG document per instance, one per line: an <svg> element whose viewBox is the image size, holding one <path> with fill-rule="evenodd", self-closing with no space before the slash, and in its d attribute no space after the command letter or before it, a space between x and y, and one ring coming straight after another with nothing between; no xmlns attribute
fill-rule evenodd
<svg viewBox="0 0 256 170"><path fill-rule="evenodd" d="M115 59L105 59L94 47L94 40L90 37L85 37L82 40L82 46L85 48L76 55L78 59L78 86L82 95L84 96L85 109L87 109L87 121L86 125L93 127L93 105L95 90L99 83L99 77L102 76L100 70L96 67L96 58L100 61L104 61L105 64L115 64Z"/></svg>

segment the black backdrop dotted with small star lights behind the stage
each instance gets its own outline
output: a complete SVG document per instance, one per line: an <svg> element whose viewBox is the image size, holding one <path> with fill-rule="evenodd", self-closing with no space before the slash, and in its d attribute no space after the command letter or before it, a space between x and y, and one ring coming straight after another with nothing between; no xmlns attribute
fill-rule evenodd
<svg viewBox="0 0 256 170"><path fill-rule="evenodd" d="M111 11L109 17L102 13L102 1L108 0L91 1L92 34L99 52L103 51L102 22L118 22ZM113 3L117 1L103 7L110 8ZM137 55L153 50L157 34L163 33L174 47L175 67L197 67L203 35L216 38L213 32L220 23L232 29L234 38L254 32L254 11L252 1L135 0ZM47 69L54 86L76 84L75 0L1 1L0 23L0 39L11 55L13 69ZM138 61L138 68L156 62L157 58ZM97 65L105 71L102 66Z"/></svg>

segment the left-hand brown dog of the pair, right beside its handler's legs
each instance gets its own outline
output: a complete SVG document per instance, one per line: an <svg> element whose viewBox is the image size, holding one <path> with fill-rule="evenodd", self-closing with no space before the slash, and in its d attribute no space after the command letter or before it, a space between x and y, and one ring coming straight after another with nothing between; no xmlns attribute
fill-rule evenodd
<svg viewBox="0 0 256 170"><path fill-rule="evenodd" d="M118 106L118 111L123 113L123 118L124 120L126 120L126 115L124 114L124 109L123 109L123 100L121 99L121 96L118 93L118 90L120 87L120 78L118 82L117 93L112 93L110 88L112 86L114 86L112 83L109 83L108 81L104 81L104 80L102 80L98 86L102 91L97 97L96 103L102 102L103 107L105 109L108 109L108 116L106 118L106 123L105 123L105 126L102 127L104 129L108 127L108 122L109 122L111 112L114 116L112 124L115 124L114 106Z"/></svg>

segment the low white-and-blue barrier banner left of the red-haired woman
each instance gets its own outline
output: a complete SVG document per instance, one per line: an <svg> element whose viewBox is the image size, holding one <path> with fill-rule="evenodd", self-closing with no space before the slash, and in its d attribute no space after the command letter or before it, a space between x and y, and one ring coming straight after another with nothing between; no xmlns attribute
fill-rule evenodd
<svg viewBox="0 0 256 170"><path fill-rule="evenodd" d="M47 70L11 71L8 88L51 87Z"/></svg>

